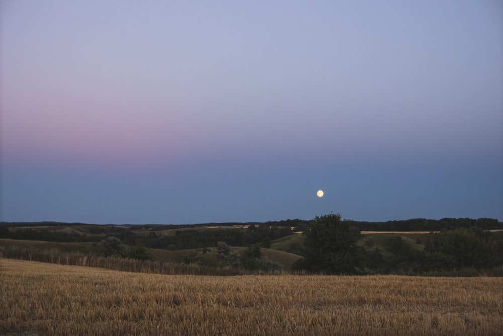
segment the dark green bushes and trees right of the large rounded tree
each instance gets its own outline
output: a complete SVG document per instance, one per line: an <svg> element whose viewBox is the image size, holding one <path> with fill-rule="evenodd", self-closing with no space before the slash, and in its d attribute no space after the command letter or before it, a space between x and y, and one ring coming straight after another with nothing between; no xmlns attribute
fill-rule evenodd
<svg viewBox="0 0 503 336"><path fill-rule="evenodd" d="M366 269L370 273L417 275L432 271L488 271L503 266L503 236L498 233L471 227L421 237L391 236L379 239L384 243L376 243L375 247L367 246L367 238L362 242L368 249Z"/></svg>

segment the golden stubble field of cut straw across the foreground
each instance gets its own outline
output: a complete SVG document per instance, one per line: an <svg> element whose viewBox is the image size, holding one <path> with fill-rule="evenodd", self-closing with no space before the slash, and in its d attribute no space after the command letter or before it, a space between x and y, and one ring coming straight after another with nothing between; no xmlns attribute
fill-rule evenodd
<svg viewBox="0 0 503 336"><path fill-rule="evenodd" d="M503 334L503 278L182 276L0 259L0 333Z"/></svg>

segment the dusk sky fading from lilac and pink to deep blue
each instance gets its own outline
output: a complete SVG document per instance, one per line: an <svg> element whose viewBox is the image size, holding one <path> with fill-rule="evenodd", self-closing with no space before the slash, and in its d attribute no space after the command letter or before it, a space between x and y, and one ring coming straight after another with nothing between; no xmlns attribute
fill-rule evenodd
<svg viewBox="0 0 503 336"><path fill-rule="evenodd" d="M502 59L499 0L4 0L0 221L501 221Z"/></svg>

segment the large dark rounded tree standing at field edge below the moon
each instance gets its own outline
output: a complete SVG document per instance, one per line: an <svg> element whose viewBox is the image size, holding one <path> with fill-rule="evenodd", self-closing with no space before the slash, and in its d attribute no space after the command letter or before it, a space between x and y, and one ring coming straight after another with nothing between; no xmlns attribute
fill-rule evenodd
<svg viewBox="0 0 503 336"><path fill-rule="evenodd" d="M356 244L360 230L341 221L341 215L316 216L303 235L305 254L296 268L326 274L357 273L363 256Z"/></svg>

